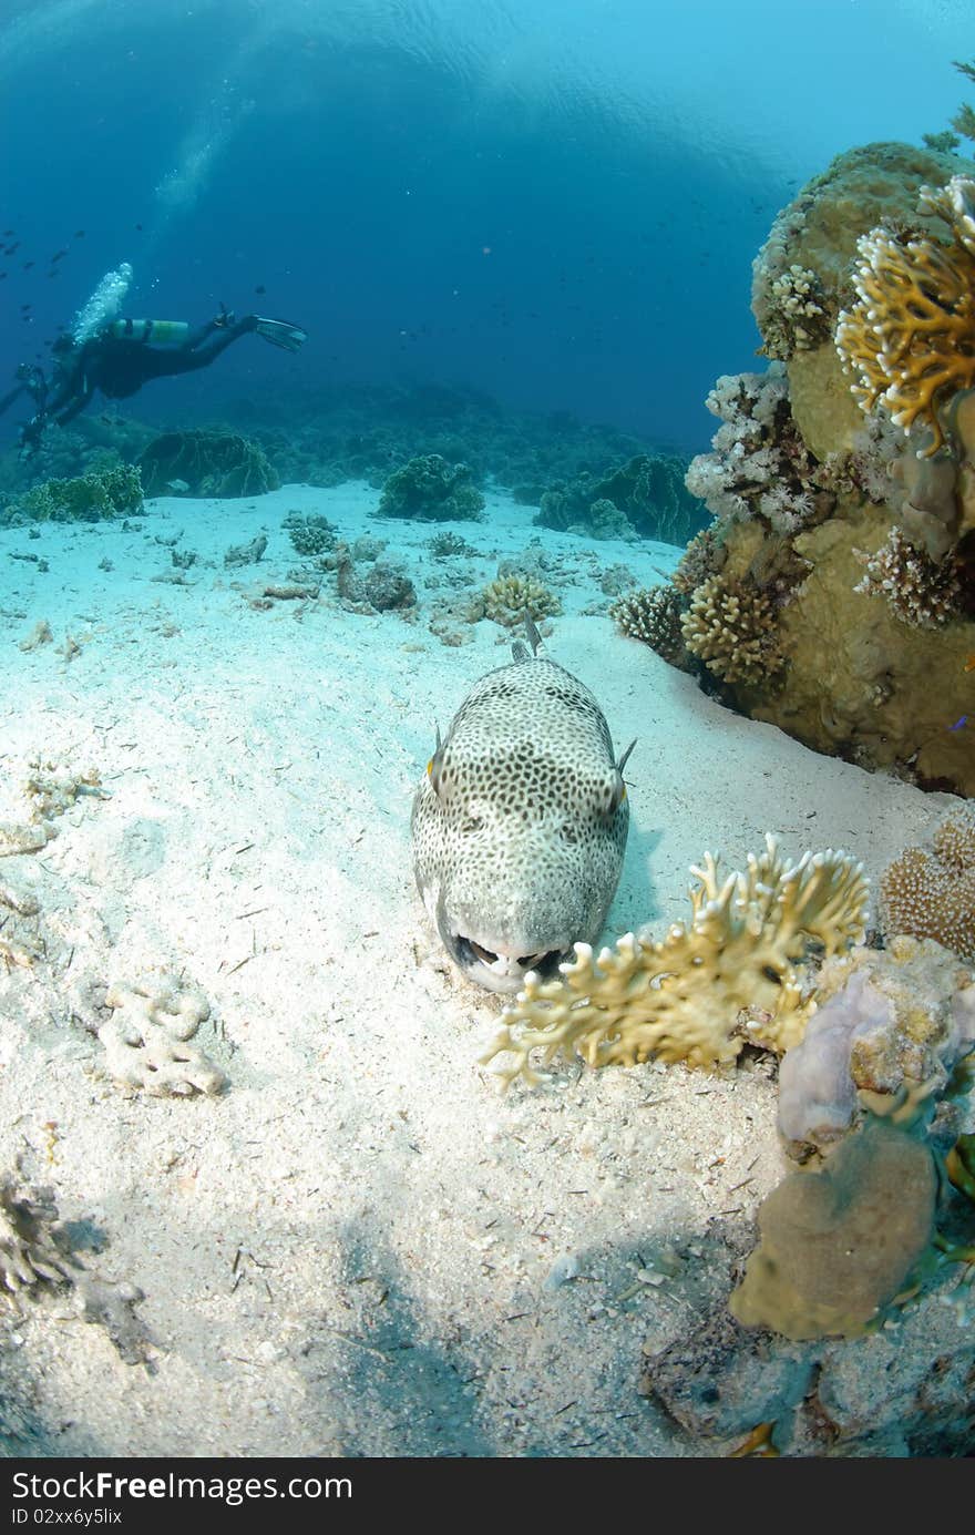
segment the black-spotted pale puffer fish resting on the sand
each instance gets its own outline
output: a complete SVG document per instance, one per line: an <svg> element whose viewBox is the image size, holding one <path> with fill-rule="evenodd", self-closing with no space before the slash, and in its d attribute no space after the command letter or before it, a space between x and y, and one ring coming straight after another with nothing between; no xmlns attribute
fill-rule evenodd
<svg viewBox="0 0 975 1535"><path fill-rule="evenodd" d="M491 992L596 942L630 827L623 766L596 698L516 640L458 709L413 800L413 870L453 962Z"/></svg>

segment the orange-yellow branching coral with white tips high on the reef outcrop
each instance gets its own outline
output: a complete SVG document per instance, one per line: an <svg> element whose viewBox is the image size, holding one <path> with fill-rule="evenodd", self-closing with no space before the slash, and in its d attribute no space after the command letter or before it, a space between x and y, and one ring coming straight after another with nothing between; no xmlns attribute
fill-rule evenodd
<svg viewBox="0 0 975 1535"><path fill-rule="evenodd" d="M930 427L930 457L944 445L940 407L975 385L975 181L923 187L921 210L944 220L949 244L861 235L857 302L840 313L835 345L863 410L883 405L904 433Z"/></svg>

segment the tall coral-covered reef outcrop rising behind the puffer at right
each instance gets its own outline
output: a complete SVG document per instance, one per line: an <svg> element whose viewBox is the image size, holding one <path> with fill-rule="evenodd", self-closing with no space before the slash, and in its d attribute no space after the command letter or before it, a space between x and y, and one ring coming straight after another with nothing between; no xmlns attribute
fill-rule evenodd
<svg viewBox="0 0 975 1535"><path fill-rule="evenodd" d="M774 361L717 381L712 451L688 470L714 523L673 580L683 654L662 625L640 635L815 751L961 795L975 794L972 279L975 181L950 155L869 144L798 193L755 259ZM841 353L860 344L848 376Z"/></svg>

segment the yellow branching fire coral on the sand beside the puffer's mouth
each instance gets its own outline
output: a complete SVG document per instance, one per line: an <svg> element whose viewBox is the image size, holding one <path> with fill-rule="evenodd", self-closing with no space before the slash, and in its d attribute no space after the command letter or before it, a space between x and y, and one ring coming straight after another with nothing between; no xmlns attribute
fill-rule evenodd
<svg viewBox="0 0 975 1535"><path fill-rule="evenodd" d="M766 835L745 873L722 880L711 853L691 873L689 924L676 923L660 942L626 933L599 958L576 944L560 981L530 973L482 1064L511 1051L505 1084L521 1076L534 1087L536 1048L544 1065L574 1053L588 1065L657 1056L717 1070L746 1042L780 1053L797 1044L815 1008L797 966L811 946L832 955L863 936L863 866L832 849L786 864Z"/></svg>

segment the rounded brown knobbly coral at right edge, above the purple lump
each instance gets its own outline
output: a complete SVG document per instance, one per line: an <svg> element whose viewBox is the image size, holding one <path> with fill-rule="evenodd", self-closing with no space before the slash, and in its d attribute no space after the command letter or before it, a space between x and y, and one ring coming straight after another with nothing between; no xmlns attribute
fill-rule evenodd
<svg viewBox="0 0 975 1535"><path fill-rule="evenodd" d="M975 806L963 804L940 824L934 855L906 847L880 881L887 935L934 938L961 959L975 959Z"/></svg>

